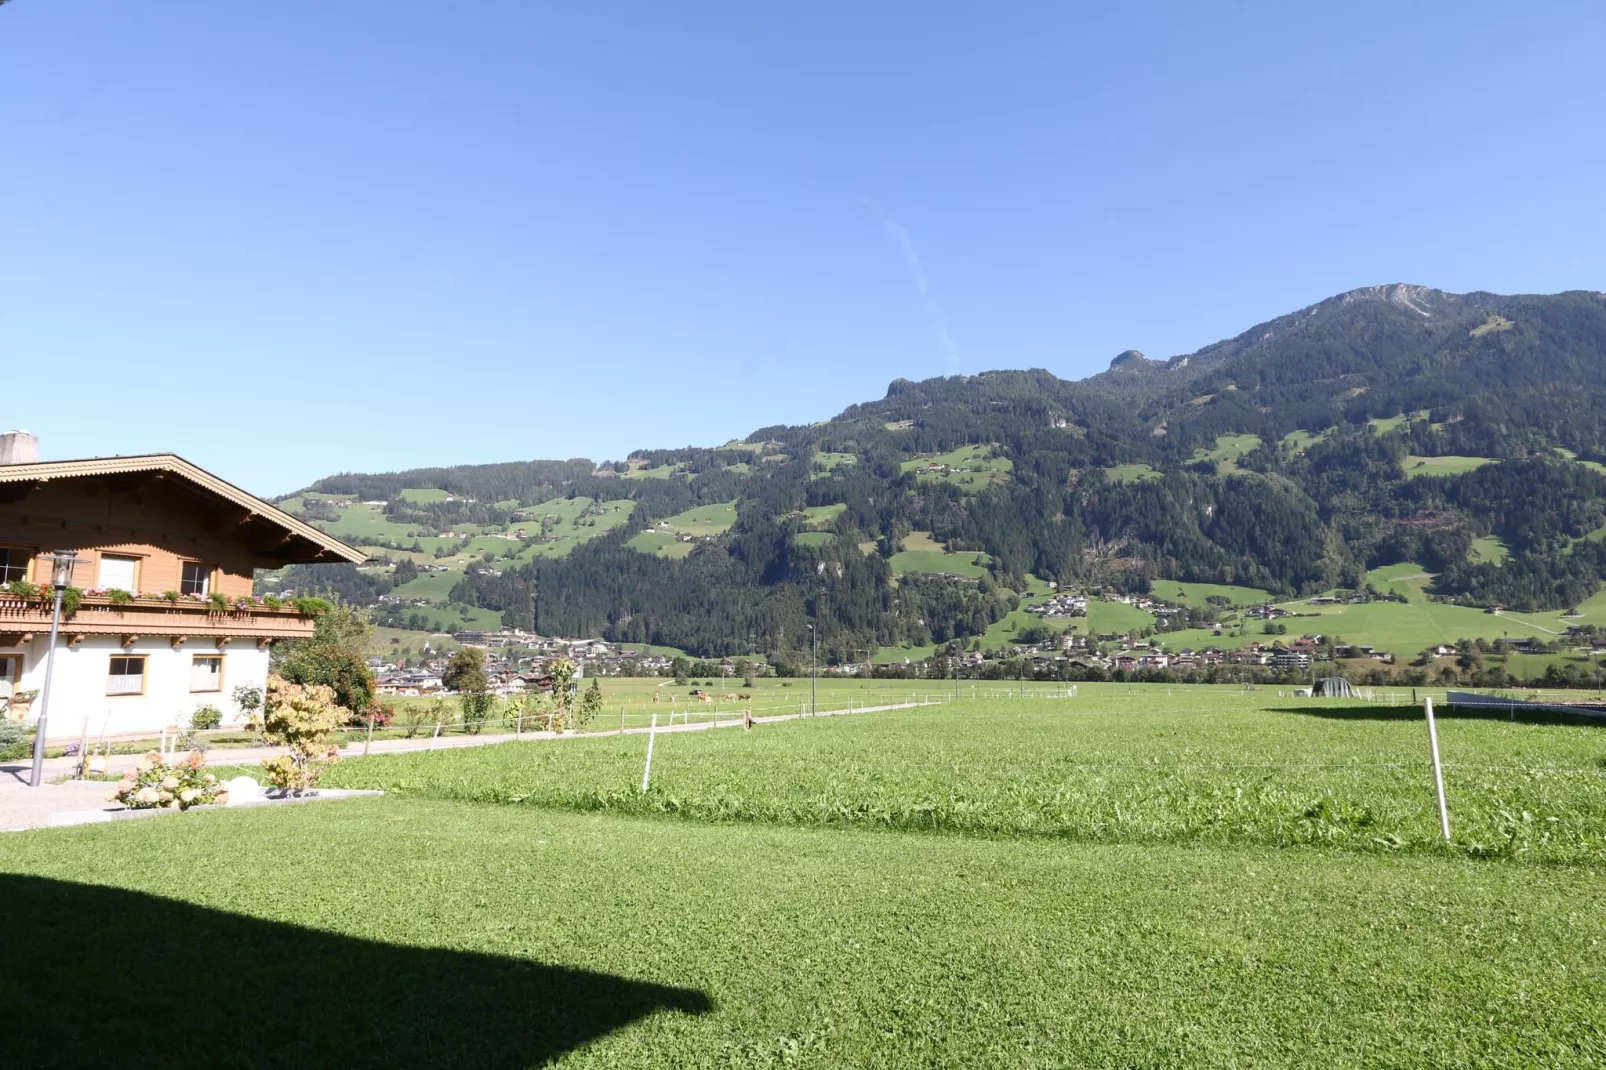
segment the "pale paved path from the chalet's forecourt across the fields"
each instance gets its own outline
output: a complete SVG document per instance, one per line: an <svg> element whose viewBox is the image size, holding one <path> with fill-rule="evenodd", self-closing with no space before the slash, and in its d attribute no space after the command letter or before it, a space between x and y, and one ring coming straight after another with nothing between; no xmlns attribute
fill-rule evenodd
<svg viewBox="0 0 1606 1070"><path fill-rule="evenodd" d="M920 705L935 705L930 702L899 702L895 705L864 705L854 707L851 710L821 710L819 717L846 717L850 713L877 713L882 710L909 710ZM755 725L774 725L777 721L795 721L806 713L777 713L772 717L755 717ZM660 733L700 733L715 728L740 728L742 718L736 717L732 720L723 721L695 721L692 725L658 725ZM652 731L650 726L646 728L625 728L625 729L609 729L601 733L524 733L522 736L514 736L512 733L487 733L483 736L443 736L440 739L376 739L369 745L369 753L411 753L419 750L451 750L456 747L490 747L493 744L512 742L514 739L591 739L596 736L644 736ZM284 753L283 747L215 747L207 752L209 765L255 765L263 758L273 758ZM345 757L355 757L363 753L361 741L350 744L342 749ZM140 763L143 755L137 753L119 753L111 755L108 760L108 771L124 773L132 770ZM66 781L63 784L50 784L53 779L61 776L71 776L77 771L77 758L47 758L45 760L45 784L34 789L27 786L29 773L32 770L27 762L6 762L0 763L0 831L14 829L35 829L47 827L53 824L80 824L87 811L104 811L106 818L122 813L133 816L135 811L120 811L114 807L108 807L106 792L111 790L111 784L106 781ZM138 811L138 813L156 813L156 811Z"/></svg>

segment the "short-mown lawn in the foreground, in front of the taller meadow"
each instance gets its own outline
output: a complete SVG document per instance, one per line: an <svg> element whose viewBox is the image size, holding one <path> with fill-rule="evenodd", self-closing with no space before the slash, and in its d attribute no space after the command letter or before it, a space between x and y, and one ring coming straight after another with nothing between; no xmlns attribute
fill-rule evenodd
<svg viewBox="0 0 1606 1070"><path fill-rule="evenodd" d="M51 1003L85 988L74 978L114 961L128 933L125 914L66 903L53 914L37 896L29 946L72 958L40 954L0 980L6 1049L31 1065L96 1044L96 1062L111 1064L153 1022L175 1023L162 1041L170 1060L215 1057L249 1033L247 1062L273 1065L320 1065L334 1046L360 1056L350 1036L368 1036L371 1059L493 1067L565 1049L557 1065L744 1070L1606 1059L1606 884L1587 868L381 798L16 834L0 840L0 872L124 890L146 905L141 922L173 917L173 932L141 933L146 943L165 937L220 972L204 998L193 985L127 983ZM186 929L194 919L177 911L193 908L243 921ZM392 948L397 970L353 975L353 938ZM300 956L292 974L283 941ZM410 962L424 951L438 970ZM506 999L463 986L474 974L454 961L469 956ZM249 1012L236 1007L223 996L230 977L255 980L265 961L276 983ZM376 969L385 956L360 961ZM520 967L671 985L702 993L703 1009L618 1025L593 986L524 1003L535 993ZM432 975L453 983L430 986ZM297 1028L329 1019L313 994L352 1009L339 1036ZM532 1015L596 1039L520 1031ZM403 1041L416 1049L395 1051Z"/></svg>

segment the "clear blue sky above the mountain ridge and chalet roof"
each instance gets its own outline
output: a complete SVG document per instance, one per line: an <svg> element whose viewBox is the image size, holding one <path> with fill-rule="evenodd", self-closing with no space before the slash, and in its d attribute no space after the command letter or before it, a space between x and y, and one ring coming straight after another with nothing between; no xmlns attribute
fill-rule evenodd
<svg viewBox="0 0 1606 1070"><path fill-rule="evenodd" d="M1600 0L14 0L0 424L271 495L1373 283L1606 289L1603 40Z"/></svg>

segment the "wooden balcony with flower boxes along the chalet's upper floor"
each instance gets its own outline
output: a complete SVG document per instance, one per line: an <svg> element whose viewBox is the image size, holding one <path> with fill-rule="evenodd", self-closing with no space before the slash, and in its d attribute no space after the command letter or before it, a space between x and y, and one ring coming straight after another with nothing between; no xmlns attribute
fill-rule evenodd
<svg viewBox="0 0 1606 1070"><path fill-rule="evenodd" d="M53 601L21 601L0 594L0 646L27 643L18 636L50 635L51 607ZM257 639L259 646L267 646L275 639L304 639L312 631L313 619L291 606L278 609L260 604L230 606L218 611L210 602L188 598L177 602L164 598L138 598L119 604L85 594L77 612L61 619L61 635L69 644L77 641L74 636L85 635L161 635L173 638L175 643L196 636Z"/></svg>

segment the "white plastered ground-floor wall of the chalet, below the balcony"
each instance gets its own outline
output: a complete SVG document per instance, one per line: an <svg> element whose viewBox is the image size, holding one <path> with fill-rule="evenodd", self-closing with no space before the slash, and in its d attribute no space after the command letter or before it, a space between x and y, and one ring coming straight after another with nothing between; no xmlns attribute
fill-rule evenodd
<svg viewBox="0 0 1606 1070"><path fill-rule="evenodd" d="M27 655L22 665L24 691L42 691L45 686L45 652L50 636L35 636L22 647ZM14 651L10 651L14 652ZM143 654L145 694L106 694L106 675L112 657ZM196 654L223 655L223 689L191 692L190 665ZM222 651L210 639L191 639L180 649L161 636L138 639L124 649L119 636L85 636L75 647L64 641L56 646L56 673L50 689L50 721L45 734L50 739L77 739L88 715L90 739L100 736L125 736L128 733L157 733L162 726L188 728L190 715L198 705L215 705L223 712L223 725L243 720L234 705L233 691L241 684L262 688L268 678L268 651L257 649L254 639L236 639ZM40 696L34 699L32 712L40 710Z"/></svg>

